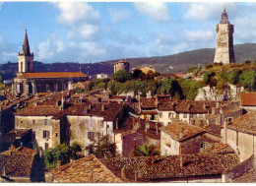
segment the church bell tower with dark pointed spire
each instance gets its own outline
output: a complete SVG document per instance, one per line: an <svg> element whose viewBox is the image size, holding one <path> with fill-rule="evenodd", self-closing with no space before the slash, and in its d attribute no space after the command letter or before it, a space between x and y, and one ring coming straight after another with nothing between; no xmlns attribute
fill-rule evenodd
<svg viewBox="0 0 256 186"><path fill-rule="evenodd" d="M22 75L23 73L32 72L32 60L33 53L31 53L30 43L28 38L27 30L25 31L23 50L19 52L18 55L18 72L17 76Z"/></svg>

